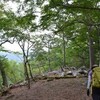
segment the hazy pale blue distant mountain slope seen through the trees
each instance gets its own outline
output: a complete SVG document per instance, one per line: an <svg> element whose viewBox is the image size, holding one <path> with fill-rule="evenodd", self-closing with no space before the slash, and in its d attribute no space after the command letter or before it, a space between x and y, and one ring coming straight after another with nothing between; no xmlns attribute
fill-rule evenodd
<svg viewBox="0 0 100 100"><path fill-rule="evenodd" d="M6 56L9 60L15 60L17 62L22 62L23 57L20 54L8 53L8 52L0 52L0 55Z"/></svg>

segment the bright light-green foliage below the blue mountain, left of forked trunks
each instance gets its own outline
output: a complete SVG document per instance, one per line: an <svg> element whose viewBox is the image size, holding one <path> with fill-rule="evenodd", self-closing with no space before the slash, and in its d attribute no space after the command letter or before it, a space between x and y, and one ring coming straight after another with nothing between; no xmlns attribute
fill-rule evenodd
<svg viewBox="0 0 100 100"><path fill-rule="evenodd" d="M0 56L0 71L5 71L8 85L14 84L20 80L24 80L24 71L21 63L10 61L4 56ZM2 86L3 79L0 74L0 84Z"/></svg>

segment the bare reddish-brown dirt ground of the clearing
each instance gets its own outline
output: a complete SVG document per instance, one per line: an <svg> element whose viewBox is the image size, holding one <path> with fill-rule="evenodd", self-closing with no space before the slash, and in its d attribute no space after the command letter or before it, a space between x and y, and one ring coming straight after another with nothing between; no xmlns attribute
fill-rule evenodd
<svg viewBox="0 0 100 100"><path fill-rule="evenodd" d="M39 80L26 86L13 88L0 100L92 100L86 95L86 78Z"/></svg>

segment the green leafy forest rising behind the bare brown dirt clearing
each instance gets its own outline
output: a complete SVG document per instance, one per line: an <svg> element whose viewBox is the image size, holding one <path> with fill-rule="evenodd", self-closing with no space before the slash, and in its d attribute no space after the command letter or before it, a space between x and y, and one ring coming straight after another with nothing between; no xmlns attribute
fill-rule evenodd
<svg viewBox="0 0 100 100"><path fill-rule="evenodd" d="M0 52L23 57L0 55L0 90L22 81L30 88L35 76L67 67L100 66L100 0L0 0Z"/></svg>

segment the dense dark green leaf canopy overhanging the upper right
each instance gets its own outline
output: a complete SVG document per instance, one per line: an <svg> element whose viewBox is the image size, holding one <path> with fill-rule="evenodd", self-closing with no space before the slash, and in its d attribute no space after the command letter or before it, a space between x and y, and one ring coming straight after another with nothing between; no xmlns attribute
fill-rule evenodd
<svg viewBox="0 0 100 100"><path fill-rule="evenodd" d="M48 4L41 6L41 8L42 18L40 24L42 29L53 30L56 34L66 34L66 38L69 41L68 45L77 48L71 49L71 51L73 50L73 53L76 52L75 55L73 54L72 59L78 57L77 61L79 62L80 58L85 58L84 55L82 55L82 52L86 48L86 54L88 54L90 37L93 38L94 42L99 41L98 35L96 35L99 34L98 29L100 28L100 9L98 0L73 0L72 2L70 0L48 0ZM96 45L99 47L99 43L95 42L94 44L95 55L99 52ZM70 48L66 48L66 50L67 49ZM67 53L70 55L69 52ZM86 58L89 58L89 55L86 56ZM70 59L70 61L73 62L72 59ZM99 62L97 60L98 57L95 57L95 62ZM89 61L86 62L86 65L88 66ZM82 64L76 64L76 66L80 65Z"/></svg>

